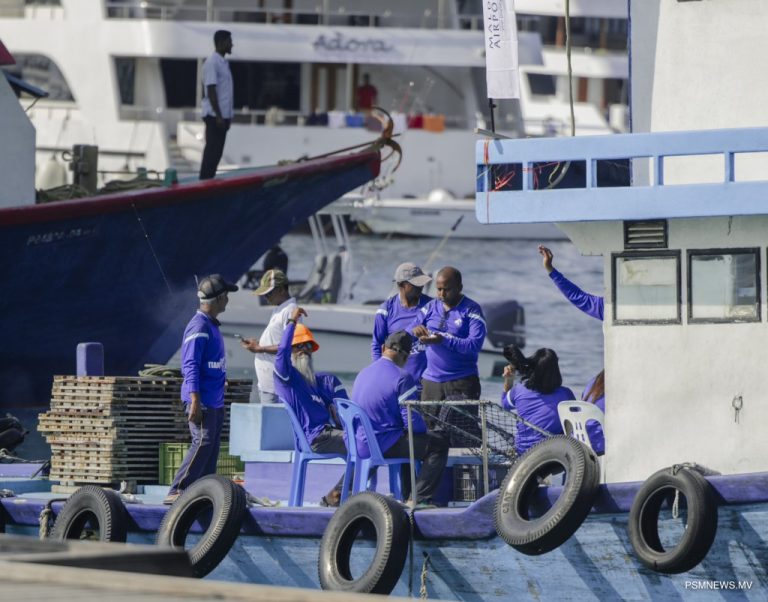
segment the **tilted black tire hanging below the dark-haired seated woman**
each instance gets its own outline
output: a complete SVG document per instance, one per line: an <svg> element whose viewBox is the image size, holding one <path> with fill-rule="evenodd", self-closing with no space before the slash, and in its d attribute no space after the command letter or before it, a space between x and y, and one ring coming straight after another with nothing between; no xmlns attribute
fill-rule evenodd
<svg viewBox="0 0 768 602"><path fill-rule="evenodd" d="M530 498L539 477L556 467L566 473L563 491L546 513L530 519ZM599 486L600 467L589 447L563 435L545 439L517 459L499 488L493 513L496 533L523 554L551 552L584 522Z"/></svg>

